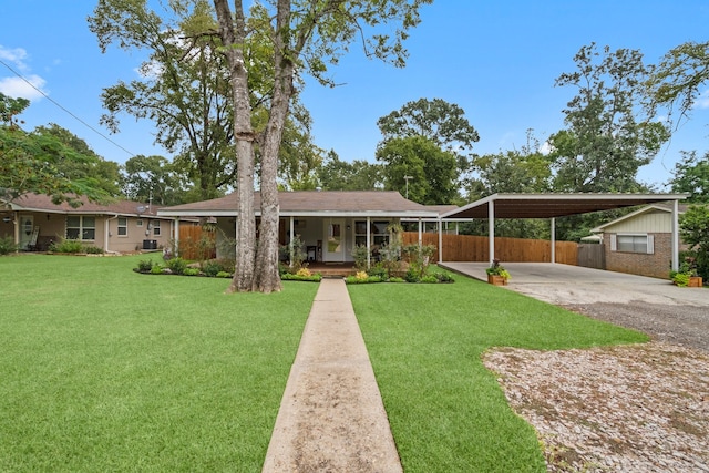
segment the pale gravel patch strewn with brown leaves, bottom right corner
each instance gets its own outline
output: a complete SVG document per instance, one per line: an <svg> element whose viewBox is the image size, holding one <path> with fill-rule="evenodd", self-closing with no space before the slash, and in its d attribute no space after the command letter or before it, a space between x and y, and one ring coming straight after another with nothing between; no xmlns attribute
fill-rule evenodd
<svg viewBox="0 0 709 473"><path fill-rule="evenodd" d="M647 345L484 356L549 472L709 472L709 356Z"/></svg>

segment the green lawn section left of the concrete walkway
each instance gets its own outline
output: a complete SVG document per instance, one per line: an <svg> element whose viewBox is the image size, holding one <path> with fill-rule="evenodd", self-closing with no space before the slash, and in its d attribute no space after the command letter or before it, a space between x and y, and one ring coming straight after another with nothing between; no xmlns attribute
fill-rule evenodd
<svg viewBox="0 0 709 473"><path fill-rule="evenodd" d="M260 471L317 285L0 258L0 471Z"/></svg>

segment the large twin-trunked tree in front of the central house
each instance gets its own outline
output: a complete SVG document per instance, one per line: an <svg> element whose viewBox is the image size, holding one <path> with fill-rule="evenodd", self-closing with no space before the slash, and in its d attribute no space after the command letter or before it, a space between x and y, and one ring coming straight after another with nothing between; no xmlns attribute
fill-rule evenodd
<svg viewBox="0 0 709 473"><path fill-rule="evenodd" d="M250 256L256 246L253 224L253 197L246 194L254 187L254 130L247 117L249 81L245 62L245 45L249 32L240 0L234 1L232 13L227 0L214 0L219 24L219 38L228 59L234 93L234 135L238 156L237 188L239 192L239 238L237 244L237 268L232 290L259 290L269 292L280 289L278 277L278 155L290 101L295 93L296 72L308 71L322 83L329 83L328 64L336 64L348 51L349 44L362 38L368 54L392 60L403 65L405 51L402 41L407 31L419 23L418 10L432 0L277 0L269 14L260 2L251 8L253 17L273 19L268 22L268 38L273 41L273 95L268 121L261 145L260 240L256 261ZM393 38L380 34L377 28L398 23ZM265 20L261 21L266 27ZM261 29L261 31L264 31ZM372 32L371 37L367 34ZM247 259L248 261L242 261Z"/></svg>

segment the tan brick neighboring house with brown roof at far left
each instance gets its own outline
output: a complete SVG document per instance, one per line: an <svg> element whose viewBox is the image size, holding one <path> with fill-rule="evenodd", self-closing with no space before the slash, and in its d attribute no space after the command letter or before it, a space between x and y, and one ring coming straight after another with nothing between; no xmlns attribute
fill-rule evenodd
<svg viewBox="0 0 709 473"><path fill-rule="evenodd" d="M157 207L132 200L96 204L82 198L73 208L47 195L0 200L0 237L12 236L22 250L47 250L62 238L78 239L106 253L157 249L169 245L173 220Z"/></svg>

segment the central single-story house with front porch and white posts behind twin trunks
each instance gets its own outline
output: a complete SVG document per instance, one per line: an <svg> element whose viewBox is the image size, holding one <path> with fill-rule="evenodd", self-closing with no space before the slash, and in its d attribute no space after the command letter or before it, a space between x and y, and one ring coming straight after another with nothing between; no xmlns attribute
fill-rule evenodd
<svg viewBox="0 0 709 473"><path fill-rule="evenodd" d="M216 219L217 256L224 254L222 241L236 237L238 195L212 200L163 207L161 217L208 217ZM408 200L398 192L386 191L296 191L278 195L279 240L286 245L296 235L308 260L322 263L353 261L352 249L367 246L376 250L388 243L390 224L435 220L439 209ZM260 216L260 194L254 194L256 218ZM175 239L179 239L178 236Z"/></svg>

